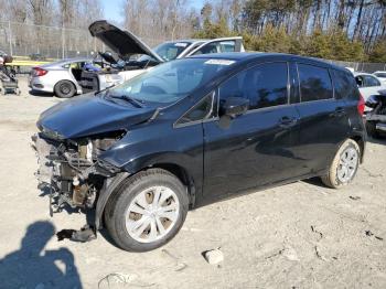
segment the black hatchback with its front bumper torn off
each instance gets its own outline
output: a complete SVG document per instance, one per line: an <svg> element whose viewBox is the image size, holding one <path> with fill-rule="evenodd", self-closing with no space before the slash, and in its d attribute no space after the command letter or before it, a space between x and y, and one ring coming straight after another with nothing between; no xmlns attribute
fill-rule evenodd
<svg viewBox="0 0 386 289"><path fill-rule="evenodd" d="M35 139L53 211L95 208L118 246L169 242L189 208L321 176L350 183L363 160L353 75L286 54L169 62L44 111Z"/></svg>

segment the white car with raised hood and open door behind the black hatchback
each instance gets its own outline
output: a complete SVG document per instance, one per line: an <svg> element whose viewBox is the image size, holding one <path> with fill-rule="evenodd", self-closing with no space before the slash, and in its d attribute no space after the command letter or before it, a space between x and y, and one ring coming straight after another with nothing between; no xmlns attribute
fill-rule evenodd
<svg viewBox="0 0 386 289"><path fill-rule="evenodd" d="M92 23L88 30L94 38L99 39L116 53L124 65L99 72L85 71L82 75L82 87L85 93L101 90L122 83L160 63L172 60L208 53L244 52L240 36L176 40L162 43L152 50L130 31L124 31L105 20ZM111 63L117 63L117 60L111 58Z"/></svg>

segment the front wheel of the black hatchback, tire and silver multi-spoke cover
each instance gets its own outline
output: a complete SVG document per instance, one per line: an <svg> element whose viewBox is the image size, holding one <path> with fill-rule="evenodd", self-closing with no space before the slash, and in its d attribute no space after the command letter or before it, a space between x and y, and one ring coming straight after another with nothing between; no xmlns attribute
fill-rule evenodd
<svg viewBox="0 0 386 289"><path fill-rule="evenodd" d="M160 202L154 201L156 195ZM167 208L171 210L163 212ZM107 202L104 216L108 233L120 248L148 251L176 235L187 210L189 196L181 181L165 170L149 169L118 188Z"/></svg>

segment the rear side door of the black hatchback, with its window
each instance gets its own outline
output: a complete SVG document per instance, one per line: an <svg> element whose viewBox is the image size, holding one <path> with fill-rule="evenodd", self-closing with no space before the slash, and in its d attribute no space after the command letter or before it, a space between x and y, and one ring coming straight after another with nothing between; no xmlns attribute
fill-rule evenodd
<svg viewBox="0 0 386 289"><path fill-rule="evenodd" d="M300 140L296 149L303 175L325 170L349 131L346 103L334 98L329 68L298 63Z"/></svg>

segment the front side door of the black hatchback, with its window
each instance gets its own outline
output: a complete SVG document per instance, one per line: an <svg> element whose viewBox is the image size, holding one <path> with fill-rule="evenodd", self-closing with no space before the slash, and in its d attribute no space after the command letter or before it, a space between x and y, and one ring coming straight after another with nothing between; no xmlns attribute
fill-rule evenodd
<svg viewBox="0 0 386 289"><path fill-rule="evenodd" d="M249 110L204 122L204 196L275 183L297 174L292 152L298 113L289 104L287 62L245 69L218 88L218 107L228 97L249 99Z"/></svg>

